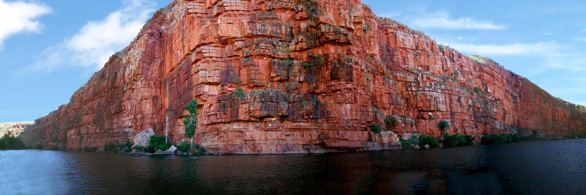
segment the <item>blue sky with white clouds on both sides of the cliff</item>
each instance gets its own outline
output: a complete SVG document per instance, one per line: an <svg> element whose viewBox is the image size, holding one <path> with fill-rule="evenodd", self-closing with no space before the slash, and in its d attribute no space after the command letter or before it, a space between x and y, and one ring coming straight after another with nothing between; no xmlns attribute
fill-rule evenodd
<svg viewBox="0 0 586 195"><path fill-rule="evenodd" d="M56 110L171 0L0 0L0 122ZM492 58L586 105L585 1L364 0L379 16Z"/></svg>

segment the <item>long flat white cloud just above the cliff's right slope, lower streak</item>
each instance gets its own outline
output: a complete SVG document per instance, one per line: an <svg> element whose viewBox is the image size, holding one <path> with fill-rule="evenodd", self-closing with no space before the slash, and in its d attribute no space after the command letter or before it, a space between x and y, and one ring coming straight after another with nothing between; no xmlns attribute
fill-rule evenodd
<svg viewBox="0 0 586 195"><path fill-rule="evenodd" d="M557 50L559 46L551 42L536 44L506 44L506 45L476 45L468 43L451 43L448 46L458 51L479 55L519 55L519 54L543 54Z"/></svg>

